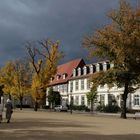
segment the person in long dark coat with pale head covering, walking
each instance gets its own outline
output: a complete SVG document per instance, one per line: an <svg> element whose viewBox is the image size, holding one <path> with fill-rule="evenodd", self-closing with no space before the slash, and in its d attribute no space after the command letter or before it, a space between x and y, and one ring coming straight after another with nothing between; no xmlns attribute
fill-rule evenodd
<svg viewBox="0 0 140 140"><path fill-rule="evenodd" d="M12 101L10 99L7 99L6 104L5 104L5 108L6 108L6 119L7 119L7 123L10 123L10 119L13 113L13 105L12 105Z"/></svg>

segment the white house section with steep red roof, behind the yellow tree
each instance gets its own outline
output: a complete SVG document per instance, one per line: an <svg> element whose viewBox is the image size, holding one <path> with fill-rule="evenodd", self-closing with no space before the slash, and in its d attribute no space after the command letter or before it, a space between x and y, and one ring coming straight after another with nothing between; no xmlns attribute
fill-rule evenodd
<svg viewBox="0 0 140 140"><path fill-rule="evenodd" d="M69 79L73 75L73 69L77 67L83 67L85 62L83 59L76 59L69 61L65 64L59 65L57 67L57 74L51 79L49 87L53 87L54 91L60 92L62 100L67 103L70 92L69 92ZM48 93L47 89L47 93ZM48 105L48 99L46 98L46 105Z"/></svg>

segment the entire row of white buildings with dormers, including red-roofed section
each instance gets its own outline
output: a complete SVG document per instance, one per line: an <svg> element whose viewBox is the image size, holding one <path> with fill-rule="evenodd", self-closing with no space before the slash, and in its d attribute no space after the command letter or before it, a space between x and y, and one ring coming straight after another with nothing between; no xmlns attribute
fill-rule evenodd
<svg viewBox="0 0 140 140"><path fill-rule="evenodd" d="M113 67L113 64L109 62L86 65L83 59L73 60L58 66L57 74L50 82L50 86L55 91L60 92L62 100L68 103L73 100L74 105L88 106L86 94L90 91L91 83L89 78L95 72L106 71L111 67ZM107 85L99 86L97 89L97 101L103 105L116 101L120 106L123 90L123 88L118 88L117 86L111 89ZM46 104L48 105L47 101ZM128 95L127 107L140 110L140 89Z"/></svg>

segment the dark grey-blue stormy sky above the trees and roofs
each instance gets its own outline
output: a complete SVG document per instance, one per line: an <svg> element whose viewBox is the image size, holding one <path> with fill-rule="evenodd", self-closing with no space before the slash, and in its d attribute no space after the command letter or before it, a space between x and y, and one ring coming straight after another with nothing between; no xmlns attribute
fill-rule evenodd
<svg viewBox="0 0 140 140"><path fill-rule="evenodd" d="M140 0L129 0L133 5ZM62 62L87 57L84 36L109 23L119 0L0 0L0 66L25 56L25 43L60 40Z"/></svg>

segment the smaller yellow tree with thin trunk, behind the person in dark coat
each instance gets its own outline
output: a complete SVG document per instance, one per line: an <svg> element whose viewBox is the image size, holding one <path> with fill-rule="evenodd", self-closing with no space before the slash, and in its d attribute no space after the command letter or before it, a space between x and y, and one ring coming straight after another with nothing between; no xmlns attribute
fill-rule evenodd
<svg viewBox="0 0 140 140"><path fill-rule="evenodd" d="M26 59L20 59L13 62L14 78L12 86L12 96L20 102L22 110L23 98L30 94L31 76L29 63Z"/></svg>

